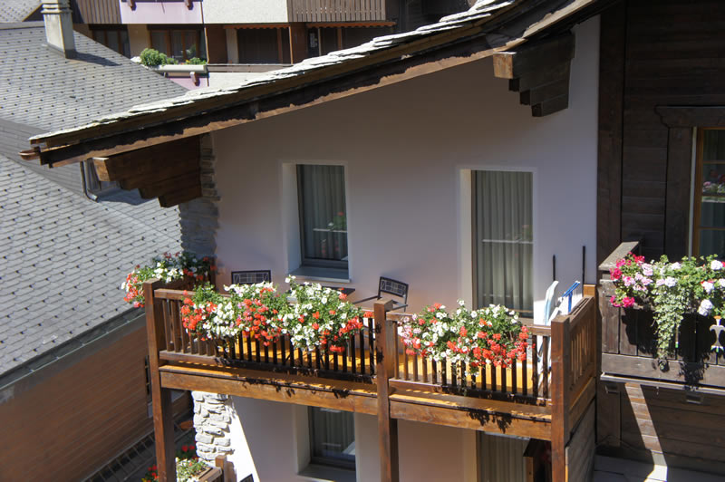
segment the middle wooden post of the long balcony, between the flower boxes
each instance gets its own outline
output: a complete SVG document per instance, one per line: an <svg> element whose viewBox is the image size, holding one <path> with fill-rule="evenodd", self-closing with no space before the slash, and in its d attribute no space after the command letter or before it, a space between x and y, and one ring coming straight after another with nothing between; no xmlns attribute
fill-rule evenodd
<svg viewBox="0 0 725 482"><path fill-rule="evenodd" d="M382 482L398 482L398 420L391 419L390 385L397 363L395 323L388 322L392 301L375 303L375 360L378 383L378 438Z"/></svg>

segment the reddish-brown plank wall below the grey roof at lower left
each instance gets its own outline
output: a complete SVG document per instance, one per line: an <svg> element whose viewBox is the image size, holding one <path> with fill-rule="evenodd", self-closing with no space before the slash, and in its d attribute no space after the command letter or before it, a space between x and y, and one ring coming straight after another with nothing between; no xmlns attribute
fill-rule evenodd
<svg viewBox="0 0 725 482"><path fill-rule="evenodd" d="M82 480L152 429L145 326L0 405L0 480Z"/></svg>

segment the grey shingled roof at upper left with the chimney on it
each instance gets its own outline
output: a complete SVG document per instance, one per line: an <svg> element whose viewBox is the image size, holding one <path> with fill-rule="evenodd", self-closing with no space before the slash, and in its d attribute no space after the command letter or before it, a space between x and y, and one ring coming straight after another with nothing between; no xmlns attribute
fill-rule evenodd
<svg viewBox="0 0 725 482"><path fill-rule="evenodd" d="M41 22L0 25L0 118L43 130L77 126L186 89L82 34L78 58L45 44Z"/></svg>

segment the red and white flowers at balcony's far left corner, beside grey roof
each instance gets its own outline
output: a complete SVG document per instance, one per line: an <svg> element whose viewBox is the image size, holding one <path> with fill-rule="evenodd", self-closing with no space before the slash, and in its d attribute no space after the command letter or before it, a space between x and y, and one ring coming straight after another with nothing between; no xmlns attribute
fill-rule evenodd
<svg viewBox="0 0 725 482"><path fill-rule="evenodd" d="M187 252L175 255L164 253L151 259L150 265L136 265L133 271L126 275L126 281L121 284L121 289L126 292L123 300L132 304L134 308L140 308L146 304L143 296L145 281L158 278L165 283L171 283L186 279L189 284L195 285L208 280L209 275L216 270L217 267L208 256L198 258Z"/></svg>

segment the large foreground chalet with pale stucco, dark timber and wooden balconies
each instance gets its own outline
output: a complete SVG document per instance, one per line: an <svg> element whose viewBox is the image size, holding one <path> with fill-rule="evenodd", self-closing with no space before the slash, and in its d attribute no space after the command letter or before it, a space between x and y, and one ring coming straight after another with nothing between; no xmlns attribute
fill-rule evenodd
<svg viewBox="0 0 725 482"><path fill-rule="evenodd" d="M23 155L43 166L93 159L121 185L143 170L163 206L213 205L219 287L269 270L352 300L381 278L406 295L405 313L368 302L343 355L244 336L221 351L181 329L180 292L147 284L161 477L182 389L202 456L226 455L240 480L720 480L721 355L683 348L662 371L637 338L646 318L606 303L602 272L630 248L722 251L700 181L719 175L723 20L708 0L479 1L34 136ZM584 290L549 319L553 280ZM524 313L526 362L474 379L401 352L406 313L457 299ZM687 346L711 343L707 328Z"/></svg>

